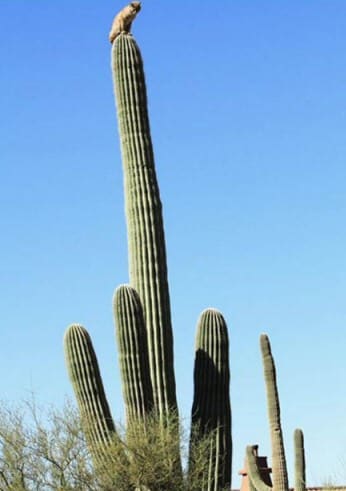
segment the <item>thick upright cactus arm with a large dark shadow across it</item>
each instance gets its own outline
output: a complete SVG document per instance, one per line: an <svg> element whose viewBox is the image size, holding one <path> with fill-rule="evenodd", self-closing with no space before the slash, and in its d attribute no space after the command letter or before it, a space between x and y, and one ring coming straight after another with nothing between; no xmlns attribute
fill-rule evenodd
<svg viewBox="0 0 346 491"><path fill-rule="evenodd" d="M192 427L197 435L198 432L202 437L210 434L209 472L208 476L201 477L202 490L217 491L231 483L229 382L226 322L220 312L207 309L197 325L192 406ZM193 455L190 460L193 462Z"/></svg>

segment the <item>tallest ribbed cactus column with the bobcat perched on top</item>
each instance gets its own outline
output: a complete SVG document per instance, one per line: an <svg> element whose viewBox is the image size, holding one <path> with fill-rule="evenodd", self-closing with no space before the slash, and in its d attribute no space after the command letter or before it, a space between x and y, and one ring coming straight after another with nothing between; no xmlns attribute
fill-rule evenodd
<svg viewBox="0 0 346 491"><path fill-rule="evenodd" d="M166 249L143 63L131 35L113 43L112 67L124 169L130 284L145 315L154 405L177 409Z"/></svg>

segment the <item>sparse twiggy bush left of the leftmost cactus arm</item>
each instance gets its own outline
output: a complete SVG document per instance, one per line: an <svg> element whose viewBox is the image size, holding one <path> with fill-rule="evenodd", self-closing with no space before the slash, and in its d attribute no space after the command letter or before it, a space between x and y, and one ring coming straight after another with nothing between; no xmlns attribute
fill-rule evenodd
<svg viewBox="0 0 346 491"><path fill-rule="evenodd" d="M43 410L35 400L0 405L0 490L95 490L77 411Z"/></svg>

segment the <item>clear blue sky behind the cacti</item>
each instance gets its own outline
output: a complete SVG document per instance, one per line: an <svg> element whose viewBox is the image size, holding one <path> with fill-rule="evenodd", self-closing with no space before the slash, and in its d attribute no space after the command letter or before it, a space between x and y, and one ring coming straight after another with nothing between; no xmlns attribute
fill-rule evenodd
<svg viewBox="0 0 346 491"><path fill-rule="evenodd" d="M126 2L124 2L126 3ZM0 394L72 395L62 336L91 333L123 417L111 298L126 283L107 34L122 2L0 0ZM143 1L182 414L195 325L231 339L233 486L245 445L270 454L259 334L276 358L293 484L345 484L345 0Z"/></svg>

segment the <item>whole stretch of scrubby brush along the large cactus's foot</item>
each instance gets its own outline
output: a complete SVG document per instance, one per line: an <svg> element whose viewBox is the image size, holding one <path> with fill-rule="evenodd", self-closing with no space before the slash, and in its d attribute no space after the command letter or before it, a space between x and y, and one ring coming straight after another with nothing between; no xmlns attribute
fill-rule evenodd
<svg viewBox="0 0 346 491"><path fill-rule="evenodd" d="M176 463L187 462L189 438L175 413L169 428L150 415L145 426L133 421L93 467L77 409L44 409L33 400L0 405L0 491L199 491L208 469L213 434L194 441L194 462L183 476Z"/></svg>

